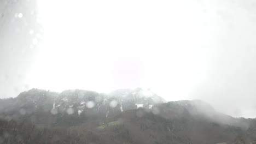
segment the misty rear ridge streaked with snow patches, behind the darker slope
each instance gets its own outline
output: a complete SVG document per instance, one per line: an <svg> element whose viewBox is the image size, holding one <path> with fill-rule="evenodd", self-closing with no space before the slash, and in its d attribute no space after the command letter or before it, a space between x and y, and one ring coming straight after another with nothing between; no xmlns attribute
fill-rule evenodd
<svg viewBox="0 0 256 144"><path fill-rule="evenodd" d="M96 119L103 123L125 110L152 107L165 100L150 91L119 89L109 94L66 90L61 93L31 89L16 98L0 100L0 117L7 121L26 119L37 125L77 125Z"/></svg>

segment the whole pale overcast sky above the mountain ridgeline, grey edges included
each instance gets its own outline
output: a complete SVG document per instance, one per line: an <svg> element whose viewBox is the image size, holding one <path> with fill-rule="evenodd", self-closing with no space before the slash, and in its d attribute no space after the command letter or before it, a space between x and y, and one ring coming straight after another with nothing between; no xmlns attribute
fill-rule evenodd
<svg viewBox="0 0 256 144"><path fill-rule="evenodd" d="M150 88L256 117L256 1L1 1L0 97Z"/></svg>

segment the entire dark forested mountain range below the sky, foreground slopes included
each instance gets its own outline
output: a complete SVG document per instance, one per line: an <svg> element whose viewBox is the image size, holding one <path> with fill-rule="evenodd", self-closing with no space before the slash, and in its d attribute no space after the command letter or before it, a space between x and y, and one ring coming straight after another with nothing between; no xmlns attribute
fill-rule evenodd
<svg viewBox="0 0 256 144"><path fill-rule="evenodd" d="M256 119L151 91L31 89L0 100L0 143L256 143Z"/></svg>

